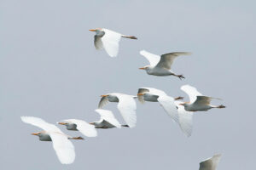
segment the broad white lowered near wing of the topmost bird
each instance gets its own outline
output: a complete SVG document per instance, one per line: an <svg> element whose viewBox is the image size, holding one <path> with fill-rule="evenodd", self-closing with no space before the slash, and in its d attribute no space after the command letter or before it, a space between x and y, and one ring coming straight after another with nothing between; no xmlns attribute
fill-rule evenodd
<svg viewBox="0 0 256 170"><path fill-rule="evenodd" d="M108 29L102 29L105 32L102 37L102 44L110 57L116 57L119 53L119 41L121 34Z"/></svg>

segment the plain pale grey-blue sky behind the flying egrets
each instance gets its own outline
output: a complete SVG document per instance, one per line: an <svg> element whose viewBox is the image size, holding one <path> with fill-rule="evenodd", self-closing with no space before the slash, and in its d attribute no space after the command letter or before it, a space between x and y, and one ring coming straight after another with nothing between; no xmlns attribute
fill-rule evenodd
<svg viewBox="0 0 256 170"><path fill-rule="evenodd" d="M180 169L199 168L216 153L218 170L253 169L256 159L254 1L70 1L0 2L1 169ZM122 39L119 55L96 51L94 33L105 27L138 40ZM153 77L138 70L139 54L189 51L178 58L177 77ZM159 88L175 97L195 86L227 105L195 113L185 137L158 103L137 102L137 127L99 130L98 137L73 141L76 160L61 165L51 143L30 133L41 129L20 121L67 118L96 121L101 94L137 94ZM122 122L116 104L106 105ZM63 132L76 136L61 127Z"/></svg>

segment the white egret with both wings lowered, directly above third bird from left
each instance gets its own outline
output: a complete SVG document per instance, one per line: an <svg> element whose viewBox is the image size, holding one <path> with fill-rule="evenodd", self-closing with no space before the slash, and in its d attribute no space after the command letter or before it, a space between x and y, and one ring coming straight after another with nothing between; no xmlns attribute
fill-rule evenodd
<svg viewBox="0 0 256 170"><path fill-rule="evenodd" d="M118 102L117 108L121 115L123 116L125 122L129 127L135 127L137 122L136 109L137 105L135 102L136 96L128 94L105 94L101 95L102 99L98 105L98 108L101 109L108 102Z"/></svg>

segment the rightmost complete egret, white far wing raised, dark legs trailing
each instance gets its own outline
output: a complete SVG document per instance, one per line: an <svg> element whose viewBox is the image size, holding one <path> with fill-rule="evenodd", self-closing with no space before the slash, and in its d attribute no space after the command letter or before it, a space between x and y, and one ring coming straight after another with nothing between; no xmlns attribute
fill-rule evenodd
<svg viewBox="0 0 256 170"><path fill-rule="evenodd" d="M204 96L201 93L197 91L196 88L184 85L181 87L181 89L189 95L189 102L185 102L183 105L186 111L208 111L212 108L225 108L224 105L211 105L212 99L218 99L218 98L212 98L208 96Z"/></svg>

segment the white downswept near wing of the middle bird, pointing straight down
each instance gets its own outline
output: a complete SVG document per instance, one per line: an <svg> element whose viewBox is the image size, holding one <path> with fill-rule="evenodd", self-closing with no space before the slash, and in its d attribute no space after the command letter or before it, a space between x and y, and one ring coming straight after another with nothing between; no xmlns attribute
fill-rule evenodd
<svg viewBox="0 0 256 170"><path fill-rule="evenodd" d="M135 127L137 122L136 102L134 96L126 94L117 94L119 104L117 105L121 115L129 127Z"/></svg>

